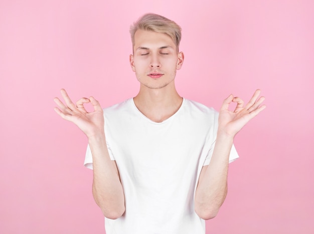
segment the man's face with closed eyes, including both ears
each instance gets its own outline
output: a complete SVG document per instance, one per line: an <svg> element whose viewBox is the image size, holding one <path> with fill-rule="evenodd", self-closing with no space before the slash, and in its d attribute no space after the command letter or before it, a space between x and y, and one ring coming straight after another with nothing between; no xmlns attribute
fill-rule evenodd
<svg viewBox="0 0 314 234"><path fill-rule="evenodd" d="M177 70L182 67L184 55L164 33L137 30L134 35L130 65L141 86L150 89L174 84Z"/></svg>

